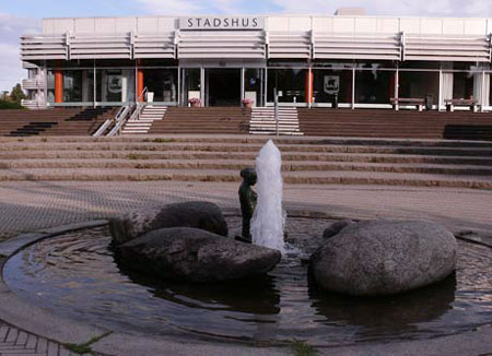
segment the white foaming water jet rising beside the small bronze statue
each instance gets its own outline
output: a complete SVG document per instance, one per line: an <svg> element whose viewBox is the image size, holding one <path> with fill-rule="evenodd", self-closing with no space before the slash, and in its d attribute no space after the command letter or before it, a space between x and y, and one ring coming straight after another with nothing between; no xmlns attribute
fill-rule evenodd
<svg viewBox="0 0 492 356"><path fill-rule="evenodd" d="M269 140L256 158L258 203L251 222L253 244L285 253L282 209L282 161L279 149Z"/></svg>

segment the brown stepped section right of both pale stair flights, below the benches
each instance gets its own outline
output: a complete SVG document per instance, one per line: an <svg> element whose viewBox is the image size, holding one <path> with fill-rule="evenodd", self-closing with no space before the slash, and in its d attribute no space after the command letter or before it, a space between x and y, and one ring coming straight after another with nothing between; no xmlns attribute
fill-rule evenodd
<svg viewBox="0 0 492 356"><path fill-rule="evenodd" d="M469 111L298 109L306 135L492 140L492 114Z"/></svg>

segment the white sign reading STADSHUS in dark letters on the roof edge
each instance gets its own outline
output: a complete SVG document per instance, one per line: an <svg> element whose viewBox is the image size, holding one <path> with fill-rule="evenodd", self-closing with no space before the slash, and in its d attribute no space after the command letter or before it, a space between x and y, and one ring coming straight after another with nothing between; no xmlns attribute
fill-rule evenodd
<svg viewBox="0 0 492 356"><path fill-rule="evenodd" d="M179 29L262 29L265 19L257 16L179 17Z"/></svg>

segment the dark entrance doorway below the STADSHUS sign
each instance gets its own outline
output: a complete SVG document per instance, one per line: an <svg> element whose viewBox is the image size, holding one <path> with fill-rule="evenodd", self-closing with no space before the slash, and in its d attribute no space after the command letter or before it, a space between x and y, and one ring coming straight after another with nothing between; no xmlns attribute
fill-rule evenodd
<svg viewBox="0 0 492 356"><path fill-rule="evenodd" d="M241 105L241 69L206 69L208 106Z"/></svg>

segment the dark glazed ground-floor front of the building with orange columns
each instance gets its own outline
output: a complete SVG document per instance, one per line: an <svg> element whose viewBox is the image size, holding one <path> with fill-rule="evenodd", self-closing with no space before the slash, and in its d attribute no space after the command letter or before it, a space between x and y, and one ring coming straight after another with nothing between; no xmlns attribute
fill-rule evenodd
<svg viewBox="0 0 492 356"><path fill-rule="evenodd" d="M269 61L258 68L180 68L178 62L162 67L162 61L152 60L118 63L93 61L91 68L91 61L66 61L59 67L49 62L47 102L54 106L128 105L136 103L137 86L142 85L148 102L183 106L196 98L204 106L242 106L248 99L261 107L272 105L274 88L285 106L330 107L336 100L345 108L389 107L390 98L397 96L423 98L434 109L444 109L447 99L473 98L484 107L492 103L492 71L490 66L477 63L316 61L311 69L298 61ZM102 67L109 64L114 67ZM55 103L56 72L62 73L61 85L58 82L62 103ZM312 93L312 103L306 93Z"/></svg>

